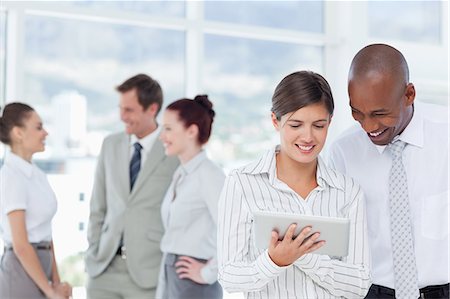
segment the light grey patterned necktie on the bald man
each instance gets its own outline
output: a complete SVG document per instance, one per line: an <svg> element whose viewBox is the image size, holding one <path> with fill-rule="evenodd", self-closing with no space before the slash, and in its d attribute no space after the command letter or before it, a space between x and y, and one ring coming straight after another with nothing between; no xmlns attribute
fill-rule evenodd
<svg viewBox="0 0 450 299"><path fill-rule="evenodd" d="M419 298L416 258L411 232L406 171L402 152L406 143L397 140L389 145L392 168L389 175L391 242L394 262L395 298Z"/></svg>

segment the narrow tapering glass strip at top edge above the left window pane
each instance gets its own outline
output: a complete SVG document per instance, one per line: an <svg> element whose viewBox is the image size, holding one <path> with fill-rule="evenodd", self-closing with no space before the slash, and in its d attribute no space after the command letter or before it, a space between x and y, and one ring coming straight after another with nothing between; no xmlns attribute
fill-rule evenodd
<svg viewBox="0 0 450 299"><path fill-rule="evenodd" d="M158 17L184 17L184 1L70 1L75 6L110 11L139 12Z"/></svg>

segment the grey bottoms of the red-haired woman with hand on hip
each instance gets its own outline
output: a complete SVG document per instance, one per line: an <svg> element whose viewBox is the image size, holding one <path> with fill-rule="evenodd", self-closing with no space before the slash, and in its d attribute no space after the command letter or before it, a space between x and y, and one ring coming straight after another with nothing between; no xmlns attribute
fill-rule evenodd
<svg viewBox="0 0 450 299"><path fill-rule="evenodd" d="M164 261L165 290L163 298L167 299L222 299L222 287L216 281L213 284L199 284L190 279L180 279L175 272L178 255L168 253ZM194 258L202 263L206 260Z"/></svg>

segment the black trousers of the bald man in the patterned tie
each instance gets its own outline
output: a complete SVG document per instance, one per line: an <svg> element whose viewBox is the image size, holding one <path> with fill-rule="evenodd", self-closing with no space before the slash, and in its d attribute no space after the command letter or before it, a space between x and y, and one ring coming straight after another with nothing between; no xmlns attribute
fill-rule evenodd
<svg viewBox="0 0 450 299"><path fill-rule="evenodd" d="M420 299L449 299L449 284L420 289ZM365 299L395 299L395 290L373 284Z"/></svg>

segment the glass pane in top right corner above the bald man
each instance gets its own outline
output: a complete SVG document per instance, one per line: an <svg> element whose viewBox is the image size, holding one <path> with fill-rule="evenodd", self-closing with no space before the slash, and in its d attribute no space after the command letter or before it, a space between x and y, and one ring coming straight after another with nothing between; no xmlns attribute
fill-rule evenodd
<svg viewBox="0 0 450 299"><path fill-rule="evenodd" d="M369 34L379 38L439 43L441 9L440 1L370 1Z"/></svg>

